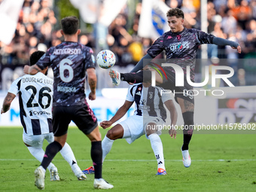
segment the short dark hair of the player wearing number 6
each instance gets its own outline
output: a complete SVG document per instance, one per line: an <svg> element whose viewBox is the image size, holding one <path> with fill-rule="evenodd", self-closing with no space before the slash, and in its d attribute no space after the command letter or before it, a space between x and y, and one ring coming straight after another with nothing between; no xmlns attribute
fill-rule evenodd
<svg viewBox="0 0 256 192"><path fill-rule="evenodd" d="M79 28L79 20L75 16L65 17L61 20L62 31L66 35L74 35Z"/></svg>

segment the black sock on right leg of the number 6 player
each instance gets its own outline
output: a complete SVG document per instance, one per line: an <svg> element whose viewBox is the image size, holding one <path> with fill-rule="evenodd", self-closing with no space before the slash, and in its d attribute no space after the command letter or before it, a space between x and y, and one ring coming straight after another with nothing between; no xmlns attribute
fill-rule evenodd
<svg viewBox="0 0 256 192"><path fill-rule="evenodd" d="M94 178L102 178L102 142L92 142L90 156L93 160Z"/></svg>

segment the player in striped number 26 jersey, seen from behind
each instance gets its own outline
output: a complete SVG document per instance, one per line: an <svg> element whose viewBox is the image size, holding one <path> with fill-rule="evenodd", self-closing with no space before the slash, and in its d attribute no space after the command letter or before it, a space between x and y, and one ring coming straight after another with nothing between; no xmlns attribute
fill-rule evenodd
<svg viewBox="0 0 256 192"><path fill-rule="evenodd" d="M30 56L30 65L34 65L44 51L35 51ZM8 90L5 97L1 114L9 110L11 102L18 95L20 102L20 121L23 125L23 142L29 152L40 162L44 157L44 139L51 143L54 141L52 127L52 96L53 79L48 78L47 68L36 75L23 75L17 78ZM60 151L62 157L72 167L72 171L78 180L85 180L87 177L78 166L75 156L69 144L66 143ZM50 181L59 181L56 166L50 163L47 166L50 171Z"/></svg>

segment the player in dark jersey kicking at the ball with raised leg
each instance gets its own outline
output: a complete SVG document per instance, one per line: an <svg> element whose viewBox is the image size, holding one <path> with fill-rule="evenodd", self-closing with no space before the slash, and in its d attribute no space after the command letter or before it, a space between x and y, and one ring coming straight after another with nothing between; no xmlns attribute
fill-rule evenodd
<svg viewBox="0 0 256 192"><path fill-rule="evenodd" d="M139 83L143 81L143 78L148 79L151 76L150 71L138 72L148 62L143 62L144 59L151 60L155 56L160 54L163 50L166 53L166 63L175 63L180 66L186 77L186 68L190 69L190 81L194 82L194 67L196 62L197 50L200 44L217 44L217 45L229 45L233 49L236 49L238 53L241 53L241 47L234 41L228 41L223 38L215 37L214 35L207 34L197 29L186 29L184 24L184 13L178 8L172 8L166 13L168 24L170 27L169 32L165 32L160 38L154 41L154 44L148 49L147 54L137 63L135 68L131 71L133 73L120 74L119 72L111 71L110 76L113 84L118 85L120 81L127 81L130 83ZM159 70L160 71L160 70ZM189 167L191 160L188 153L188 145L192 137L194 125L194 96L183 94L184 90L193 90L193 87L187 83L187 79L184 78L184 86L175 86L175 70L172 67L163 67L163 71L166 73L167 78L161 78L156 72L156 81L160 87L166 90L172 90L175 94L175 100L181 107L181 112L184 120L184 127L190 127L190 129L183 130L184 140L181 147L183 163L185 167ZM164 72L163 77L165 76ZM134 73L137 72L137 73Z"/></svg>

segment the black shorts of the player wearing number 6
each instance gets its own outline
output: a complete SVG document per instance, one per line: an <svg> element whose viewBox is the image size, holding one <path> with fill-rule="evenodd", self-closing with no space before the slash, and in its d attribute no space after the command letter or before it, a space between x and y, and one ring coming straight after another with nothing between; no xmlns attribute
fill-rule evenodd
<svg viewBox="0 0 256 192"><path fill-rule="evenodd" d="M74 121L84 134L90 134L97 126L97 118L89 105L53 107L54 136L63 136L68 132L69 123Z"/></svg>

